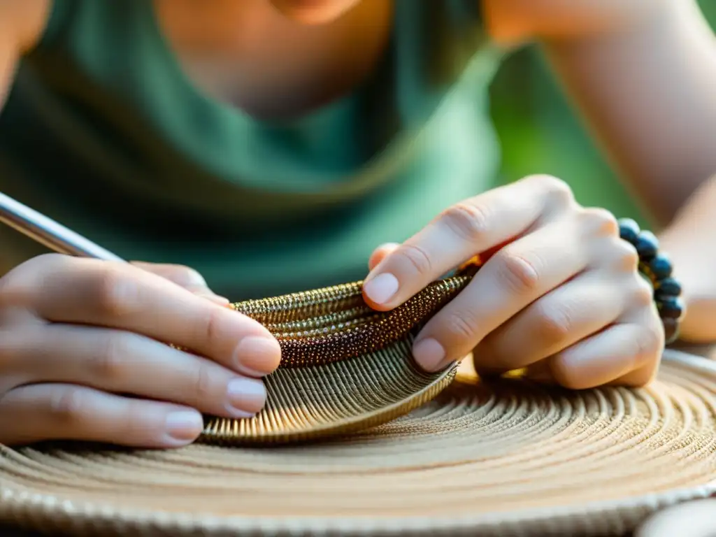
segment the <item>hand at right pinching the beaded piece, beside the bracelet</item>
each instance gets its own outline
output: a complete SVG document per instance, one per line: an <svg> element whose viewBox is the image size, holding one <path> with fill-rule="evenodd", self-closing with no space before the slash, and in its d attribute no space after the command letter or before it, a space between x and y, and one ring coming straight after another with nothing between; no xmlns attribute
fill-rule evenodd
<svg viewBox="0 0 716 537"><path fill-rule="evenodd" d="M418 334L421 367L442 369L474 349L483 374L528 368L575 389L652 379L664 329L637 252L619 238L614 216L581 207L555 178L490 190L400 246L379 248L364 297L392 309L485 253L473 281Z"/></svg>

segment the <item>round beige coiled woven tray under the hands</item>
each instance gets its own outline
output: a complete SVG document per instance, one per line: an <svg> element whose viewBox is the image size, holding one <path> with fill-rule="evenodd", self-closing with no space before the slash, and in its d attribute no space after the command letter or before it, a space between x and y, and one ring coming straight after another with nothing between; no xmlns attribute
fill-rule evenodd
<svg viewBox="0 0 716 537"><path fill-rule="evenodd" d="M606 536L706 498L716 364L667 352L643 390L476 382L342 439L0 457L0 521L69 535ZM646 535L646 534L644 534Z"/></svg>

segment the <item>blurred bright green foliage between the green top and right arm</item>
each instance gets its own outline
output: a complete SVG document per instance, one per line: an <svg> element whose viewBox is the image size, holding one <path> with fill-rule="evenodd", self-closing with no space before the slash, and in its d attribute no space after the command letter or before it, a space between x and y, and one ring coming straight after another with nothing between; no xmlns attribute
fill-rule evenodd
<svg viewBox="0 0 716 537"><path fill-rule="evenodd" d="M716 29L716 1L700 4ZM580 203L646 221L570 109L538 49L528 47L513 54L491 92L503 149L503 182L550 173L571 183Z"/></svg>

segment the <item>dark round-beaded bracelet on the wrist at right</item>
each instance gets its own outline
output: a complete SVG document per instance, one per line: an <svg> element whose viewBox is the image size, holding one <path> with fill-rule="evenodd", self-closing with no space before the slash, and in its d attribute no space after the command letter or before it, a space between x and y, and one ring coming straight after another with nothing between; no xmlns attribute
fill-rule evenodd
<svg viewBox="0 0 716 537"><path fill-rule="evenodd" d="M681 284L672 277L669 257L659 252L659 239L651 231L642 231L631 218L619 220L619 236L637 248L639 272L647 277L654 289L654 301L664 324L666 344L679 337L679 324L684 313Z"/></svg>

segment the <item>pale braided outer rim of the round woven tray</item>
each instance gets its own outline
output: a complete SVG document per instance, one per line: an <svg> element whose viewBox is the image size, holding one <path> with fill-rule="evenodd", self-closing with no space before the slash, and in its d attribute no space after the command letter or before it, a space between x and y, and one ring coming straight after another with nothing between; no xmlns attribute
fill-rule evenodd
<svg viewBox="0 0 716 537"><path fill-rule="evenodd" d="M664 361L685 364L716 374L709 359L678 351L664 352ZM700 487L634 496L623 500L591 502L561 508L538 508L506 513L450 518L276 518L219 517L207 513L170 513L117 509L111 505L72 502L53 495L13 490L0 483L0 521L24 528L57 531L72 528L119 535L127 530L136 536L158 533L200 536L573 536L601 537L634 531L662 508L716 494L716 480Z"/></svg>

